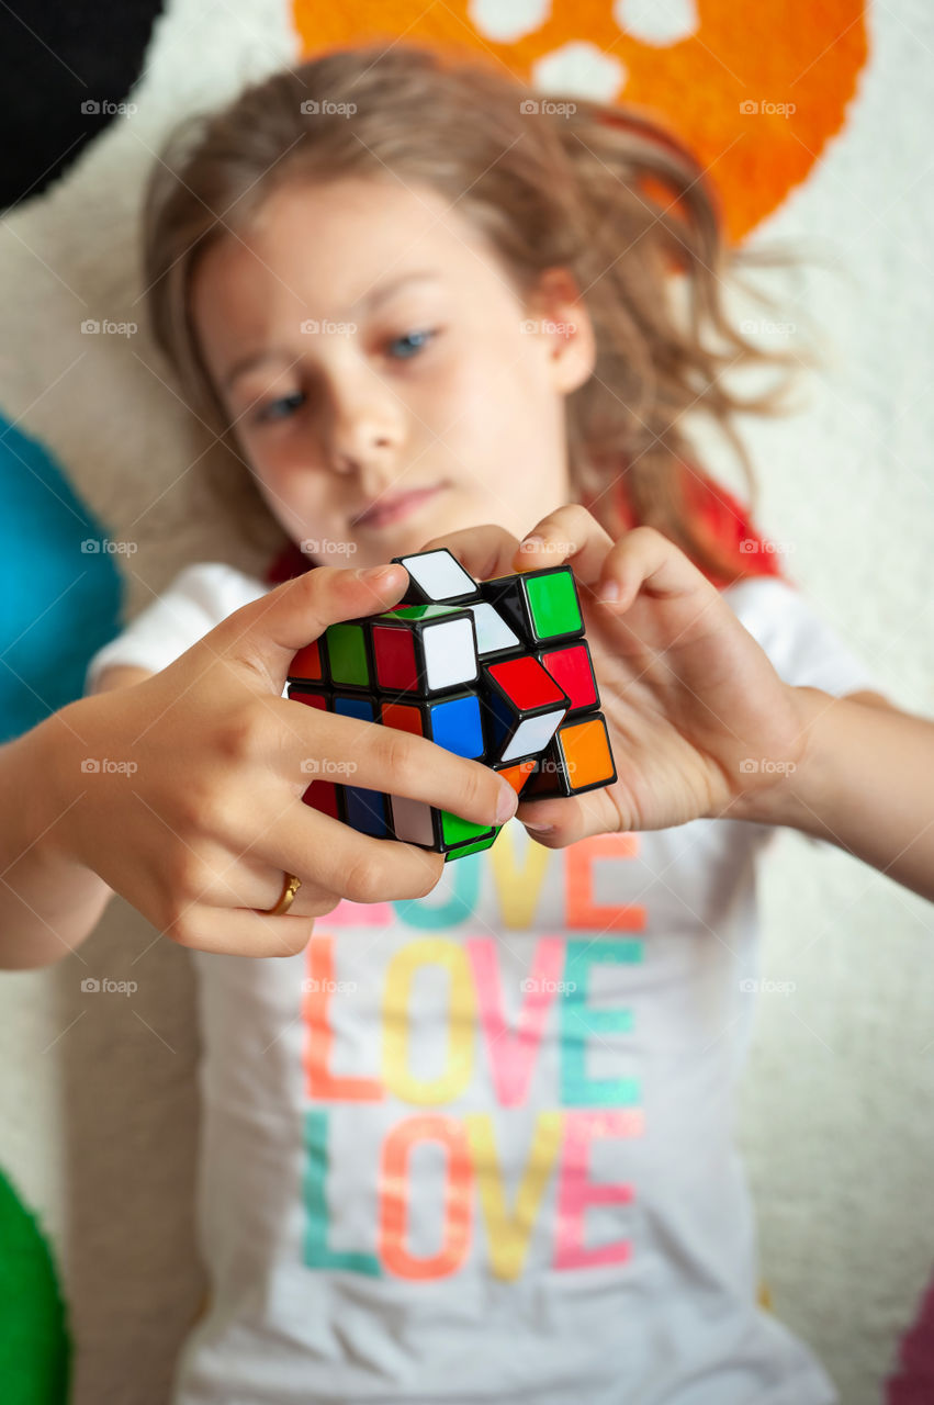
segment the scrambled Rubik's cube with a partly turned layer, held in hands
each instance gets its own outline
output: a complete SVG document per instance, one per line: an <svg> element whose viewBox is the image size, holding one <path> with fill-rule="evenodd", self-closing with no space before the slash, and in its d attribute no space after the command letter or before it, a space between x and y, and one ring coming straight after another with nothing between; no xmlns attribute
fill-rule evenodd
<svg viewBox="0 0 934 1405"><path fill-rule="evenodd" d="M292 659L288 697L379 722L499 771L541 799L611 785L617 771L569 566L478 582L448 551L395 556L395 610L330 625ZM489 849L501 826L402 795L315 778L308 805L445 860Z"/></svg>

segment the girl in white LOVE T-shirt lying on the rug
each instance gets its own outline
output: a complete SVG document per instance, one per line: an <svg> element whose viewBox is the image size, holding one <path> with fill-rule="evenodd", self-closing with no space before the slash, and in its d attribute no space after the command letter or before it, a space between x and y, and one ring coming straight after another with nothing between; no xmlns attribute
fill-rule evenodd
<svg viewBox="0 0 934 1405"><path fill-rule="evenodd" d="M754 860L792 825L934 894L934 726L692 462L685 416L729 431L722 375L764 360L701 171L400 44L195 124L145 237L157 340L291 554L185 569L0 753L3 951L56 960L111 891L195 950L211 1294L177 1405L833 1401L757 1304L732 1138ZM438 544L572 563L619 771L447 865L302 805L309 770L485 823L508 787L282 697Z"/></svg>

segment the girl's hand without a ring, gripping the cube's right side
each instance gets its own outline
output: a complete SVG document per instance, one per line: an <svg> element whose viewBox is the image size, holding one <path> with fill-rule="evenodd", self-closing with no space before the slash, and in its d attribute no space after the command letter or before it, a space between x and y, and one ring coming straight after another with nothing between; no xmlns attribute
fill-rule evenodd
<svg viewBox="0 0 934 1405"><path fill-rule="evenodd" d="M546 847L699 818L754 819L764 792L787 784L802 760L795 688L716 587L653 528L614 542L572 504L521 545L489 525L438 537L423 551L437 547L479 580L565 562L574 572L618 780L520 802L517 818Z"/></svg>

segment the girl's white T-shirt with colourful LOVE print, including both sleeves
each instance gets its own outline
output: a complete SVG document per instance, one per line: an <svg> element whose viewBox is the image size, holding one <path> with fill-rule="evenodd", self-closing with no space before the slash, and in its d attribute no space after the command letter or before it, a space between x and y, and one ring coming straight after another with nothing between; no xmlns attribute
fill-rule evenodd
<svg viewBox="0 0 934 1405"><path fill-rule="evenodd" d="M190 566L88 667L157 670L267 587ZM775 579L725 599L789 683L871 673ZM733 1090L771 830L566 850L504 826L306 951L195 953L212 1293L174 1405L830 1405L757 1307Z"/></svg>

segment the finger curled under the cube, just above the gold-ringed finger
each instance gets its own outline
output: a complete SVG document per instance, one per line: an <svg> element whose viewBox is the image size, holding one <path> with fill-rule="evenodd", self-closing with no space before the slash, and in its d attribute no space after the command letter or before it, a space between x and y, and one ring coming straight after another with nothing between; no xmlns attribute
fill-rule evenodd
<svg viewBox="0 0 934 1405"><path fill-rule="evenodd" d="M444 854L362 835L301 799L251 851L271 868L295 874L351 902L424 898L444 873Z"/></svg>

